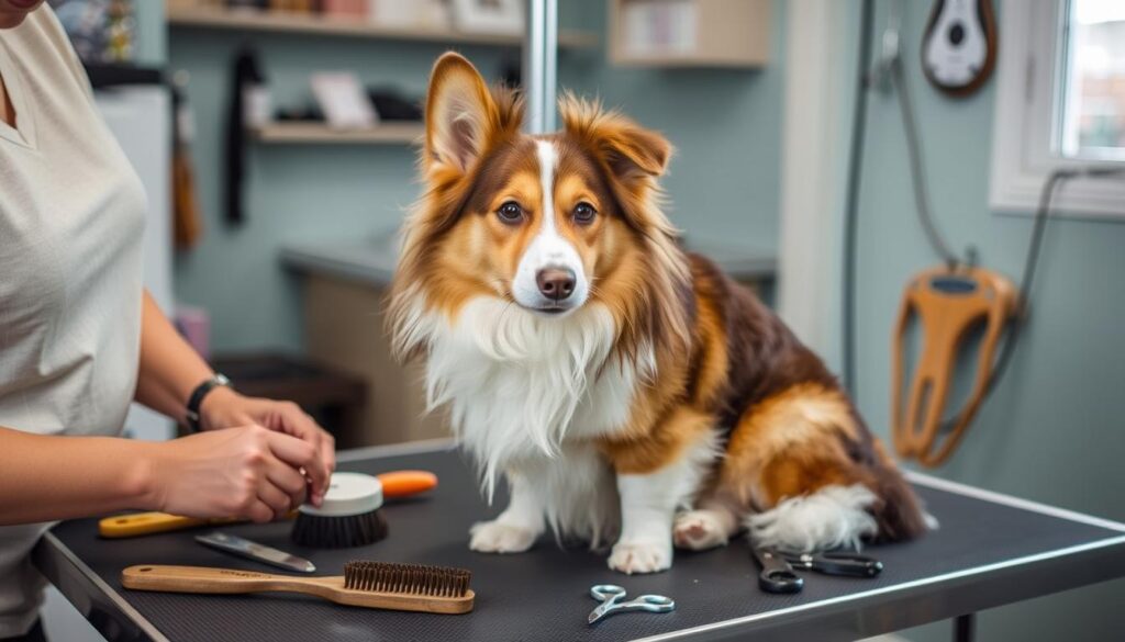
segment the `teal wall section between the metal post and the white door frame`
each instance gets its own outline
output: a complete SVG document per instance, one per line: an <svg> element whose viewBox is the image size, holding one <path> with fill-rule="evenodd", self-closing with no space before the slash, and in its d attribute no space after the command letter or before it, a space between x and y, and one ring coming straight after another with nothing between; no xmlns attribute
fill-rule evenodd
<svg viewBox="0 0 1125 642"><path fill-rule="evenodd" d="M620 67L605 64L604 55L560 65L560 85L598 96L672 141L668 213L690 237L776 251L784 8L774 1L771 61L763 69ZM559 11L564 24L605 33L603 2L560 2Z"/></svg>

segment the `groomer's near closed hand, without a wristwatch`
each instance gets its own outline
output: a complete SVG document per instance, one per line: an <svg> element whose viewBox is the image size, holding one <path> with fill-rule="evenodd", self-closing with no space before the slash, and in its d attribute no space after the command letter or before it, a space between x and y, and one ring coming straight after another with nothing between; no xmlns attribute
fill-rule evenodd
<svg viewBox="0 0 1125 642"><path fill-rule="evenodd" d="M153 509L269 522L305 500L300 469L323 462L307 442L261 426L199 433L150 446Z"/></svg>

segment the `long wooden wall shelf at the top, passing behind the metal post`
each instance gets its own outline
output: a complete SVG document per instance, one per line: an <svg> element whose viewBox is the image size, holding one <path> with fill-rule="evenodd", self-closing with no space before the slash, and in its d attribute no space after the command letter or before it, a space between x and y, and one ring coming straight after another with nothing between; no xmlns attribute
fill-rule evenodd
<svg viewBox="0 0 1125 642"><path fill-rule="evenodd" d="M288 33L320 36L346 36L388 40L421 40L466 45L519 46L523 38L497 34L471 34L448 28L394 27L363 19L333 18L318 15L222 9L217 7L169 7L171 27L225 29L238 31ZM597 35L588 31L562 30L560 47L593 47Z"/></svg>

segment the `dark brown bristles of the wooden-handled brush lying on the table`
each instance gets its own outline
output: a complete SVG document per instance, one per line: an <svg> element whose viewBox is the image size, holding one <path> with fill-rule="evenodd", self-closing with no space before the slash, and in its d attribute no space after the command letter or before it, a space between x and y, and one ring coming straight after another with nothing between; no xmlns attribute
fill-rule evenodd
<svg viewBox="0 0 1125 642"><path fill-rule="evenodd" d="M461 597L468 593L471 577L472 572L466 569L426 564L371 561L344 564L344 588L356 590Z"/></svg>

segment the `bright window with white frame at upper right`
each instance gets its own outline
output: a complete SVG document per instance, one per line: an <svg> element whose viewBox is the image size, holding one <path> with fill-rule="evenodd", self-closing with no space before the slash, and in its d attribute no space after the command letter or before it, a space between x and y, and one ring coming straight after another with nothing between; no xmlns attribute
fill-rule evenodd
<svg viewBox="0 0 1125 642"><path fill-rule="evenodd" d="M1122 0L1005 0L997 82L993 209L1033 213L1055 168L1125 164ZM1071 181L1055 204L1125 218L1125 181Z"/></svg>

